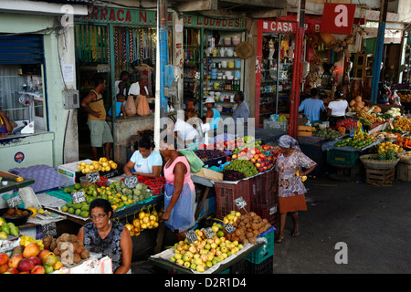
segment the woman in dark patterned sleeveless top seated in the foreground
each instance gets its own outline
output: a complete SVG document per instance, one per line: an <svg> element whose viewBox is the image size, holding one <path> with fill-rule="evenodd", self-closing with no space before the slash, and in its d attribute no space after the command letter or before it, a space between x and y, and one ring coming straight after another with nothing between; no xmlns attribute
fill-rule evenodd
<svg viewBox="0 0 411 292"><path fill-rule="evenodd" d="M90 203L91 222L79 230L79 240L92 253L108 255L114 274L132 273L132 237L121 223L111 220L111 204L104 199Z"/></svg>

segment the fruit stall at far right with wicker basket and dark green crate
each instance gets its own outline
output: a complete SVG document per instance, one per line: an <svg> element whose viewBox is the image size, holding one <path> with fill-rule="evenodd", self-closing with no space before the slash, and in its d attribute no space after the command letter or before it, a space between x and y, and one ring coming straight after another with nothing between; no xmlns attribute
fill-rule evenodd
<svg viewBox="0 0 411 292"><path fill-rule="evenodd" d="M364 109L362 101L353 99L352 115L337 124L345 128L345 136L322 145L327 163L337 168L337 174L350 172L351 179L364 177L366 183L386 184L395 180L395 165L399 156L411 147L409 131L411 119L398 106L370 106ZM343 133L344 130L342 130ZM408 155L408 154L407 154ZM398 164L403 180L407 168Z"/></svg>

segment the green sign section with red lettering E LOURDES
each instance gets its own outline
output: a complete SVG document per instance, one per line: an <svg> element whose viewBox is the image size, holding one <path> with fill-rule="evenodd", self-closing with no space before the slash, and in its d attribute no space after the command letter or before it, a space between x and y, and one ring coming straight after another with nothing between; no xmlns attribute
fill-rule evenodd
<svg viewBox="0 0 411 292"><path fill-rule="evenodd" d="M245 29L246 19L240 18L215 18L207 16L184 16L184 27Z"/></svg>

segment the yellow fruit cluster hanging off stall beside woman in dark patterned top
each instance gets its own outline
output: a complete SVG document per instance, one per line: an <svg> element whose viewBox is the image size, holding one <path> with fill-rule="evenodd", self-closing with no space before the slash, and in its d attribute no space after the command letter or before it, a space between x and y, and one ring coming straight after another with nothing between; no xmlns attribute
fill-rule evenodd
<svg viewBox="0 0 411 292"><path fill-rule="evenodd" d="M161 218L163 214L163 210L157 212L154 207L153 211L150 212L150 208L152 205L147 207L147 212L144 212L145 207L142 207L142 211L138 215L138 218L132 220L132 224L126 224L126 228L130 231L131 236L138 236L144 229L153 229L157 228L158 225L161 223Z"/></svg>

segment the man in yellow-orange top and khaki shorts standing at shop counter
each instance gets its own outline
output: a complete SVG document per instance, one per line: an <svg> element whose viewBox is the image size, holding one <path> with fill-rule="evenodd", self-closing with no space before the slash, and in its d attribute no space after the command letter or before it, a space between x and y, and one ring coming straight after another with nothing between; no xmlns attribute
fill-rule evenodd
<svg viewBox="0 0 411 292"><path fill-rule="evenodd" d="M112 135L109 124L106 122L106 109L101 92L106 88L106 80L98 77L96 87L81 101L81 107L89 113L87 124L90 129L91 151L93 159L98 161L97 149L104 145L105 156L111 161Z"/></svg>

